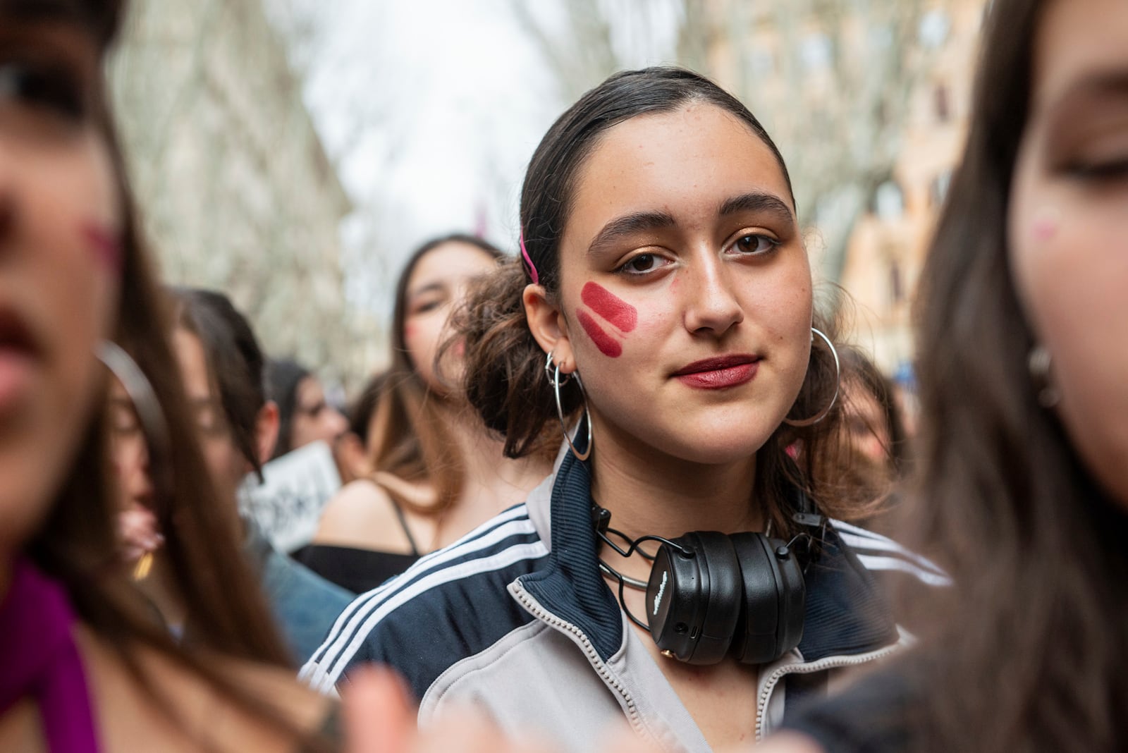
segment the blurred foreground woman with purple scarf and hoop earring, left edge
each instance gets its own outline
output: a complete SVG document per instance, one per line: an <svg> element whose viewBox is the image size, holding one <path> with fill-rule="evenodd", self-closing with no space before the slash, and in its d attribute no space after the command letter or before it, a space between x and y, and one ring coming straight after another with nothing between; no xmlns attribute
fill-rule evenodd
<svg viewBox="0 0 1128 753"><path fill-rule="evenodd" d="M0 750L328 747L331 706L292 681L194 441L107 106L123 12L0 0ZM147 363L143 387L109 338ZM98 353L156 419L153 499L182 530L168 577L192 641L121 567Z"/></svg>

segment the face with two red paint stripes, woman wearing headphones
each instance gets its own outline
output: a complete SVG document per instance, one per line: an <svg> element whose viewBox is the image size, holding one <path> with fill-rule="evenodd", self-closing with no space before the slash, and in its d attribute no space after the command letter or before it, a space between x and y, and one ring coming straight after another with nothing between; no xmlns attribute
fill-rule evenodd
<svg viewBox="0 0 1128 753"><path fill-rule="evenodd" d="M811 272L772 151L704 104L610 129L578 179L558 304L554 356L580 372L598 441L748 458L811 348Z"/></svg>

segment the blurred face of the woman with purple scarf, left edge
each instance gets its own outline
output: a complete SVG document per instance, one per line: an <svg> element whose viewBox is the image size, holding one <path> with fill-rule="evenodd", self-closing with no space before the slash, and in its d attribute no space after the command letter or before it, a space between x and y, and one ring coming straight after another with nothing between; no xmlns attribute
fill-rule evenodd
<svg viewBox="0 0 1128 753"><path fill-rule="evenodd" d="M99 402L122 223L100 77L78 27L0 12L0 552L46 512Z"/></svg>

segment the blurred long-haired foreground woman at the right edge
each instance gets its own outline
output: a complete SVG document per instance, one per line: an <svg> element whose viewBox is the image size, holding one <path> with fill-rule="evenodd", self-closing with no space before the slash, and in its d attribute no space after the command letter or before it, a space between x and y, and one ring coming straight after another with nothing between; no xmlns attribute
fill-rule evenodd
<svg viewBox="0 0 1128 753"><path fill-rule="evenodd" d="M920 278L919 643L765 751L1128 750L1128 3L995 0Z"/></svg>

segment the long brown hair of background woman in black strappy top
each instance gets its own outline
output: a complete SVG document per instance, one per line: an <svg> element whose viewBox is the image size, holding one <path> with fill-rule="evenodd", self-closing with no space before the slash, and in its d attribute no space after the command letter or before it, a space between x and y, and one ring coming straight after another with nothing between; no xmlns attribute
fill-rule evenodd
<svg viewBox="0 0 1128 753"><path fill-rule="evenodd" d="M405 481L425 482L434 493L433 502L421 505L396 489L385 489L396 504L421 515L440 515L458 499L465 482L461 451L450 438L449 414L440 411L441 398L434 395L412 362L404 335L407 320L407 285L415 267L429 253L447 243L467 243L495 259L502 253L475 236L453 233L434 238L411 255L396 282L391 316L391 365L370 424L368 445L373 471L391 473ZM442 353L444 348L440 348Z"/></svg>

